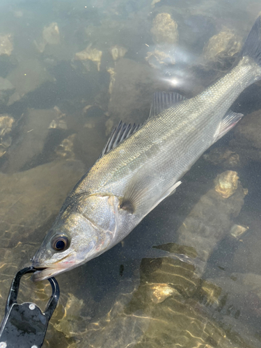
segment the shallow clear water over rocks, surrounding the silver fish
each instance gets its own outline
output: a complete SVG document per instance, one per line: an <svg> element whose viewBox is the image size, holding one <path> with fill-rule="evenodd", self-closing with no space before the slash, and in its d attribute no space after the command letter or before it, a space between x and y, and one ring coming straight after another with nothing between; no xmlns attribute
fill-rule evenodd
<svg viewBox="0 0 261 348"><path fill-rule="evenodd" d="M2 0L0 6L3 314L13 276L111 128L120 119L143 122L156 90L191 97L222 76L261 5ZM44 347L260 347L260 108L255 84L232 106L248 116L191 168L175 195L122 243L57 276L61 301ZM240 180L228 173L237 182L229 198L214 189L225 171ZM24 279L20 301L44 308L47 285Z"/></svg>

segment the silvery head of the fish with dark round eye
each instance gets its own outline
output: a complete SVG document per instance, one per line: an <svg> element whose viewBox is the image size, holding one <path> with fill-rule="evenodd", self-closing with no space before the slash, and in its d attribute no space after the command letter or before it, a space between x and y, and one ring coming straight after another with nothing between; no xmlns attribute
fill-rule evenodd
<svg viewBox="0 0 261 348"><path fill-rule="evenodd" d="M56 276L108 250L116 235L116 204L111 196L90 196L62 208L32 259L39 269L33 280Z"/></svg>

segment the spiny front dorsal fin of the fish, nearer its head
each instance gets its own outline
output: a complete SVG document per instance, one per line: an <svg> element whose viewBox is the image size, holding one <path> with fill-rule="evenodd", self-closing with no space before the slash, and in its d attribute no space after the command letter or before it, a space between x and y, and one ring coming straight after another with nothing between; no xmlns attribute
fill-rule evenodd
<svg viewBox="0 0 261 348"><path fill-rule="evenodd" d="M99 159L102 158L102 156L106 155L107 152L112 150L113 148L116 148L116 146L121 143L122 141L125 141L129 138L132 134L134 134L138 129L140 129L142 124L127 125L127 123L123 123L122 121L119 122L118 126L113 129L111 132L111 135L109 136L109 139L104 146Z"/></svg>

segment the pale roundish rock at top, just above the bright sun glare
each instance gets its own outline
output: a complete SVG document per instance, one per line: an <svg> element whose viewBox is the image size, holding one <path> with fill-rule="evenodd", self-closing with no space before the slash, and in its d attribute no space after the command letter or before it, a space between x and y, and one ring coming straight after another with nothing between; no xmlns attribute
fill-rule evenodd
<svg viewBox="0 0 261 348"><path fill-rule="evenodd" d="M153 26L150 31L154 42L158 44L174 44L178 40L177 23L169 13L159 13L153 19Z"/></svg>

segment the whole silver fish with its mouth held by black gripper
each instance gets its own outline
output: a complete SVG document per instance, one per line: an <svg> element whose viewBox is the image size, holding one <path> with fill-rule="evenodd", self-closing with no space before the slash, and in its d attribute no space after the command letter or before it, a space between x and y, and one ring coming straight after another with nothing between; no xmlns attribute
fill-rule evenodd
<svg viewBox="0 0 261 348"><path fill-rule="evenodd" d="M155 93L143 125L120 122L99 159L79 180L33 256L44 280L96 258L122 241L213 143L242 118L230 110L261 79L261 17L237 64L202 93L186 99ZM127 83L127 81L126 81Z"/></svg>

